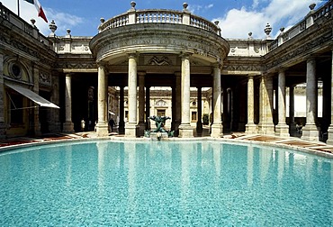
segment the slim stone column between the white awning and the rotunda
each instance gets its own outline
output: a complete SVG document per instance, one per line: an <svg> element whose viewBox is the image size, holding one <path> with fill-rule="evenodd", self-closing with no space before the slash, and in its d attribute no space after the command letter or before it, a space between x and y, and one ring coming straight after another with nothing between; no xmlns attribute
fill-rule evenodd
<svg viewBox="0 0 333 227"><path fill-rule="evenodd" d="M72 77L66 74L65 85L65 123L62 131L67 133L74 132L74 124L72 123Z"/></svg>

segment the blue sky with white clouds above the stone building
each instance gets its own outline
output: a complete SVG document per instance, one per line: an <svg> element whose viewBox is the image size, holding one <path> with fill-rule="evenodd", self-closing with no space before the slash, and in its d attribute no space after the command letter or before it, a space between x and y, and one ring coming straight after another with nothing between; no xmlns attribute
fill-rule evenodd
<svg viewBox="0 0 333 227"><path fill-rule="evenodd" d="M35 25L45 36L49 36L49 23L54 20L58 36L71 30L73 36L94 36L100 18L105 20L126 13L130 9L130 0L39 0L49 21L45 23L37 16L34 5L24 0L0 0L4 6L17 14L17 2L20 5L20 16ZM185 0L136 0L136 9L171 9L183 10ZM310 12L309 5L316 3L315 9L328 0L188 0L188 10L211 22L220 21L222 37L227 39L247 39L252 32L255 39L264 39L266 23L273 28L271 36L275 38L280 28L285 31L300 22Z"/></svg>

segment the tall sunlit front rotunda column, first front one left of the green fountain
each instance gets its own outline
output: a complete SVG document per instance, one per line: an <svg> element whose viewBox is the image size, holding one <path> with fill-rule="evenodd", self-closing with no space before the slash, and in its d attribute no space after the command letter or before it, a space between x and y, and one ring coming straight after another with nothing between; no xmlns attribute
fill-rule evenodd
<svg viewBox="0 0 333 227"><path fill-rule="evenodd" d="M129 122L125 125L125 136L137 136L137 54L129 55Z"/></svg>

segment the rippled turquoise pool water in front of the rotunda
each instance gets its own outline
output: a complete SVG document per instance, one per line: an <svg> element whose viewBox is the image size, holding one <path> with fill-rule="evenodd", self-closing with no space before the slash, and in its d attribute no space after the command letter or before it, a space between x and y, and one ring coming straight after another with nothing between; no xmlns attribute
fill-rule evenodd
<svg viewBox="0 0 333 227"><path fill-rule="evenodd" d="M0 153L0 226L332 226L332 160L202 142Z"/></svg>

